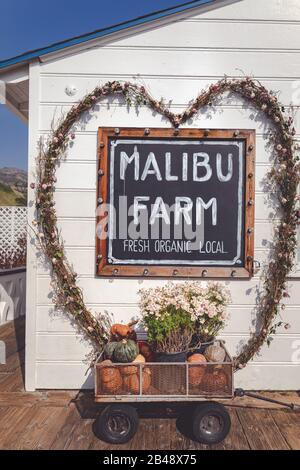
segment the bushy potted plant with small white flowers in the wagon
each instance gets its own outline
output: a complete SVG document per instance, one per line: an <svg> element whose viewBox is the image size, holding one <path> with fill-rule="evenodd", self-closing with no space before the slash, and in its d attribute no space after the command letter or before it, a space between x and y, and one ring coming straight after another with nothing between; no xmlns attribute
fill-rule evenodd
<svg viewBox="0 0 300 470"><path fill-rule="evenodd" d="M187 351L224 328L230 293L221 283L187 281L141 289L140 309L156 351Z"/></svg>

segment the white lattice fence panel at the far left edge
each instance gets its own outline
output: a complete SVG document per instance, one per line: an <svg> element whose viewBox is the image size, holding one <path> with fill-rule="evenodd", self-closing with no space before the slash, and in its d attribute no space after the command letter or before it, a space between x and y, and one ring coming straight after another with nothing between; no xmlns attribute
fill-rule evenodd
<svg viewBox="0 0 300 470"><path fill-rule="evenodd" d="M27 207L0 206L0 247L14 251L26 233Z"/></svg>

